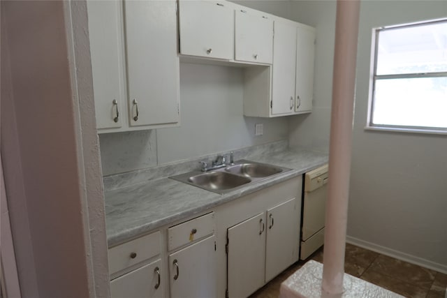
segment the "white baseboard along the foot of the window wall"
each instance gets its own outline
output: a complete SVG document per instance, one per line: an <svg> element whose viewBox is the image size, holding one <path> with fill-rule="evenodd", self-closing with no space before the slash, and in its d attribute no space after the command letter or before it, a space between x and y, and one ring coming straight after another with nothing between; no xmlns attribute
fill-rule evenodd
<svg viewBox="0 0 447 298"><path fill-rule="evenodd" d="M425 260L423 258L415 257L414 255L409 255L408 253L402 253L401 251L395 251L394 249L380 246L362 239L354 238L351 236L346 237L346 242L349 244L353 244L356 246L360 246L362 248L369 249L369 251L375 251L376 253L381 253L382 255L388 255L389 257L393 257L405 262L409 262L414 265L418 265L420 267L425 267L427 269L432 269L444 274L447 274L447 266L438 264L436 262L432 262L429 260Z"/></svg>

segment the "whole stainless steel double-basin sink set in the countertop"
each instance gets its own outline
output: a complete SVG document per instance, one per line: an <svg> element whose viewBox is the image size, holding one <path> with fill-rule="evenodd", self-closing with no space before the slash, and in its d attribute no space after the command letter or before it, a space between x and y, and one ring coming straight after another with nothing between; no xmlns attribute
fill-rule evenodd
<svg viewBox="0 0 447 298"><path fill-rule="evenodd" d="M170 177L177 181L203 188L214 193L228 193L241 186L255 183L291 169L277 167L254 161L237 161L234 165L227 165L209 172L188 172Z"/></svg>

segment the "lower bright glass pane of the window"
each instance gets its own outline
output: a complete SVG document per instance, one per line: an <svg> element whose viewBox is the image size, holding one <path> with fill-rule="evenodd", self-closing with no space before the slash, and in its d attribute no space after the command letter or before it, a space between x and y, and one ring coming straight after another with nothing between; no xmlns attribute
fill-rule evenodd
<svg viewBox="0 0 447 298"><path fill-rule="evenodd" d="M372 124L447 128L447 77L376 80Z"/></svg>

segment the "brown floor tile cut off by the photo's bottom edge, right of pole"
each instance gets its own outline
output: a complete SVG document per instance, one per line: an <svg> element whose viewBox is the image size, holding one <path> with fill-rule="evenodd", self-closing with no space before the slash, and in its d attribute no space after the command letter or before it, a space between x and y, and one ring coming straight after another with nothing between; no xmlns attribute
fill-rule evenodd
<svg viewBox="0 0 447 298"><path fill-rule="evenodd" d="M379 285L382 288L403 295L407 298L425 298L427 292L429 291L426 288L421 288L418 285L400 281L397 278L378 273L371 269L367 269L367 271L365 271L365 273L362 274L360 278L365 281L369 281L369 283L374 283L374 285Z"/></svg>

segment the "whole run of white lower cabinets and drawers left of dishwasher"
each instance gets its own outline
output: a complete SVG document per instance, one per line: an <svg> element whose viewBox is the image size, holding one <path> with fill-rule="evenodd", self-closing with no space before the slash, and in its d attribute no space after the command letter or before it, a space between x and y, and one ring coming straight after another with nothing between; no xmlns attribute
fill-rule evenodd
<svg viewBox="0 0 447 298"><path fill-rule="evenodd" d="M248 297L298 261L302 177L108 250L112 298Z"/></svg>

